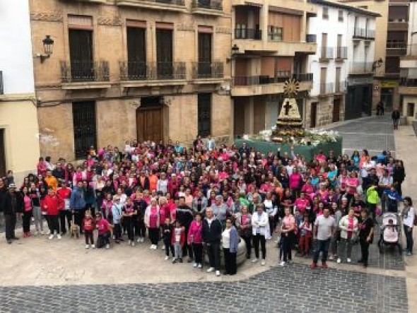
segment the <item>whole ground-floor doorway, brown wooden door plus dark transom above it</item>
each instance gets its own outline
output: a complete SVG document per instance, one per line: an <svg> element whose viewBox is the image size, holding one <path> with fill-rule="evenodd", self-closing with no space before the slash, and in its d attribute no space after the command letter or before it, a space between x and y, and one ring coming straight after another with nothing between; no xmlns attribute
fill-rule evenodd
<svg viewBox="0 0 417 313"><path fill-rule="evenodd" d="M163 140L163 102L160 97L141 98L136 110L138 142Z"/></svg>

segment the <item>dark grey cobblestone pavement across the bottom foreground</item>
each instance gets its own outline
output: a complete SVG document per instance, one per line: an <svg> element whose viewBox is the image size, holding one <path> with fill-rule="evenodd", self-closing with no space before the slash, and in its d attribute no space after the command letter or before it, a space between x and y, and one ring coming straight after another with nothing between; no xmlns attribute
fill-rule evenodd
<svg viewBox="0 0 417 313"><path fill-rule="evenodd" d="M404 278L305 265L234 283L0 288L2 312L407 312Z"/></svg>

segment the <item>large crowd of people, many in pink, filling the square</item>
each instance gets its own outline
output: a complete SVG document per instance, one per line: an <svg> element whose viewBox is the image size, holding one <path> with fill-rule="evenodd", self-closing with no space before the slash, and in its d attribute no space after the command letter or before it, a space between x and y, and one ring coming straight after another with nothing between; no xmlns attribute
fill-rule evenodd
<svg viewBox="0 0 417 313"><path fill-rule="evenodd" d="M389 151L371 156L325 155L313 160L280 149L267 154L246 143L217 146L197 137L192 147L179 142L129 141L124 148L90 148L79 165L64 159L40 158L37 173L17 187L13 172L0 179L0 208L6 240L15 235L16 215L23 237L84 234L86 249L136 243L148 238L150 249L165 250L165 260L207 272L237 271L237 250L245 242L247 259L266 264L266 240L278 234L279 265L293 251L312 256L311 268L327 268L327 258L351 262L360 243L363 266L375 237L377 216L398 212L406 235L406 254L413 253L413 203L402 197L404 164ZM45 229L44 220L47 222ZM30 228L33 228L32 232ZM95 230L98 237L95 239Z"/></svg>

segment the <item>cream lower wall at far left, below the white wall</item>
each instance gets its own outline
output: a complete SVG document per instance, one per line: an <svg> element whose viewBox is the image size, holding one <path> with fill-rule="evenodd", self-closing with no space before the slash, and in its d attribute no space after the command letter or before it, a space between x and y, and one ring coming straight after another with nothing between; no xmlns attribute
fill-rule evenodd
<svg viewBox="0 0 417 313"><path fill-rule="evenodd" d="M6 170L13 170L16 182L34 172L39 158L35 95L0 95L0 129L4 129Z"/></svg>

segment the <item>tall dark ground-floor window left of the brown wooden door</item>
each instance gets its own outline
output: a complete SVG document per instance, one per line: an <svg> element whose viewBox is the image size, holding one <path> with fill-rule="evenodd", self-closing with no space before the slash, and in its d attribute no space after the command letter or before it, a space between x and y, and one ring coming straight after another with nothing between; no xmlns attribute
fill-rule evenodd
<svg viewBox="0 0 417 313"><path fill-rule="evenodd" d="M73 102L72 117L76 158L86 158L91 146L97 148L95 102Z"/></svg>

